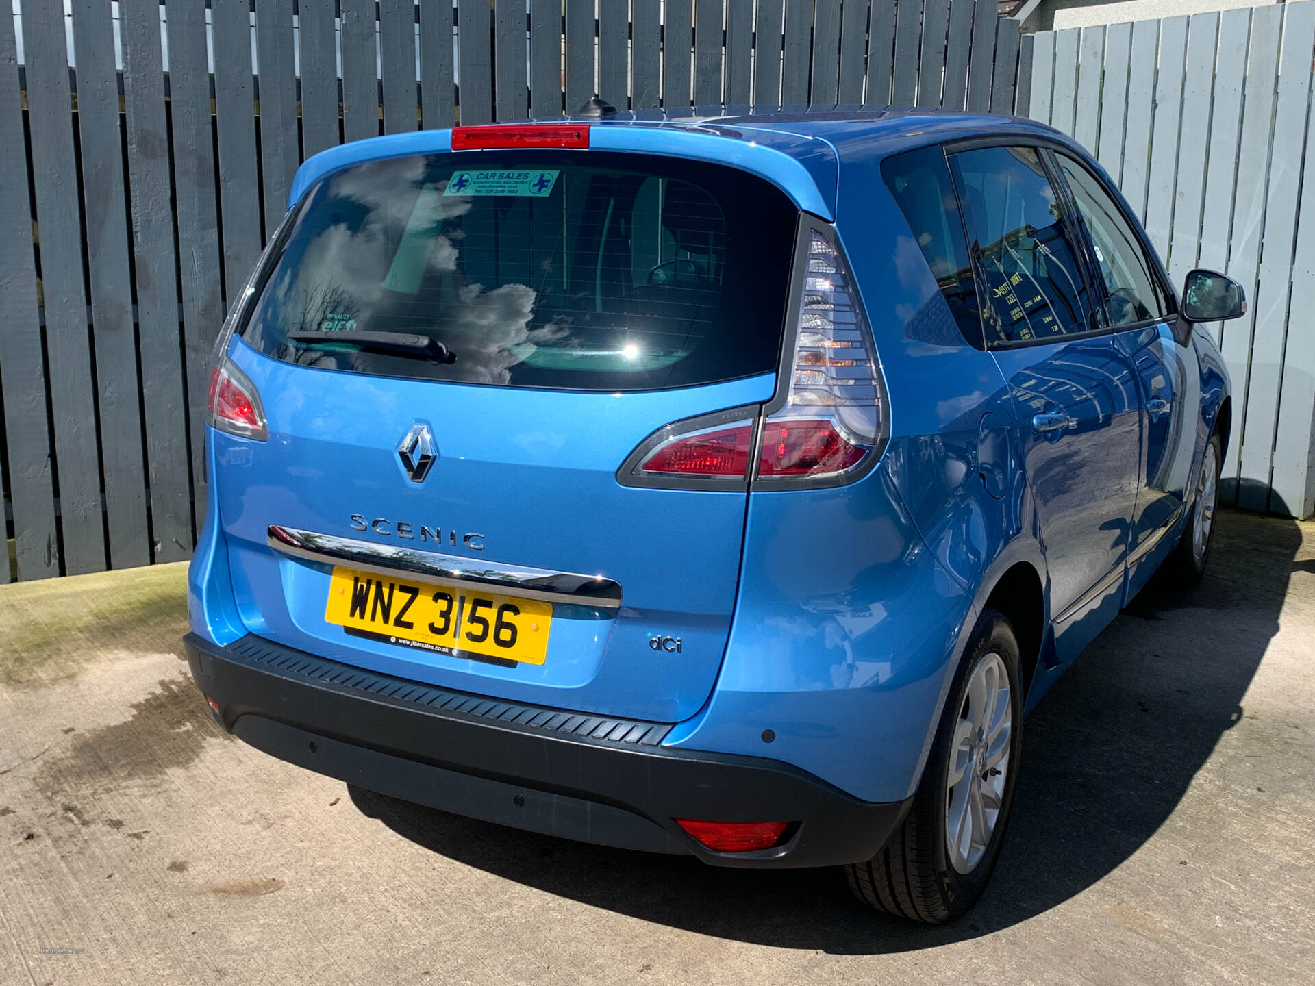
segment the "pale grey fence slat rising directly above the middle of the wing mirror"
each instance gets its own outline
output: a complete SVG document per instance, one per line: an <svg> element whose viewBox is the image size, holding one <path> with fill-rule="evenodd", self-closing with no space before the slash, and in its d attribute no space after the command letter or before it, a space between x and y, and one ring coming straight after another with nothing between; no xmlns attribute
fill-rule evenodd
<svg viewBox="0 0 1315 986"><path fill-rule="evenodd" d="M1201 216L1199 264L1212 271L1228 266L1233 183L1237 177L1237 129L1241 126L1241 89L1247 78L1247 39L1251 11L1224 11L1219 26L1215 64L1214 112L1210 117L1210 153L1206 164L1205 208ZM1222 325L1212 326L1222 343Z"/></svg>

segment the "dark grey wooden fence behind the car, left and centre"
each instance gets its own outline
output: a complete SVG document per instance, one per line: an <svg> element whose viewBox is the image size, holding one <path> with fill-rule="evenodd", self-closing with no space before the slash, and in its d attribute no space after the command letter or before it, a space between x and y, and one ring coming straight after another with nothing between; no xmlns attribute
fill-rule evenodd
<svg viewBox="0 0 1315 986"><path fill-rule="evenodd" d="M995 0L22 0L0 17L0 581L188 556L209 350L306 155L594 93L1009 112L1018 53Z"/></svg>

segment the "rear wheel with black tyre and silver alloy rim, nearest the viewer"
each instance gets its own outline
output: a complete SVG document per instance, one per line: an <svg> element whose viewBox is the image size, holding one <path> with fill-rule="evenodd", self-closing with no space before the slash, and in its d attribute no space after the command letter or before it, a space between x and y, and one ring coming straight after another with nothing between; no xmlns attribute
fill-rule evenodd
<svg viewBox="0 0 1315 986"><path fill-rule="evenodd" d="M1009 619L998 610L984 610L955 673L909 814L876 856L844 868L859 901L899 918L945 924L982 895L999 857L1018 780L1023 744L1019 667ZM1005 728L1007 735L1001 735ZM986 776L994 770L1001 773ZM990 802L994 809L988 807ZM967 847L964 826L973 830Z"/></svg>

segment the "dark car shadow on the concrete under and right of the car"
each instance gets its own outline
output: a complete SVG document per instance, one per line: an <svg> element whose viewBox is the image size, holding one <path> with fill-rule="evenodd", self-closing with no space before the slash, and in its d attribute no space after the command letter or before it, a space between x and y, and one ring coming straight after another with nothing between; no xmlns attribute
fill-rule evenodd
<svg viewBox="0 0 1315 986"><path fill-rule="evenodd" d="M693 858L564 841L350 787L352 802L452 860L643 920L704 935L878 953L1010 927L1124 862L1168 819L1278 631L1301 531L1220 515L1210 572L1182 592L1153 580L1055 686L1024 728L1009 839L986 895L964 919L927 928L855 903L839 870L734 870Z"/></svg>

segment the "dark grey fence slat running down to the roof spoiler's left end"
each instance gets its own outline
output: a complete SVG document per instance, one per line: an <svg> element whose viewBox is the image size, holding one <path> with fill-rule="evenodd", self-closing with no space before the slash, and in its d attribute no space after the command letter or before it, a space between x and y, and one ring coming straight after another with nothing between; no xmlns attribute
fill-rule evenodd
<svg viewBox="0 0 1315 986"><path fill-rule="evenodd" d="M292 0L258 0L256 59L260 87L260 177L264 238L279 226L300 163L297 87L292 60Z"/></svg>

